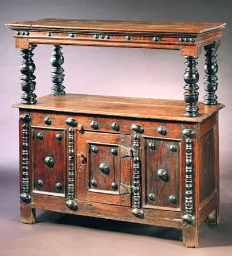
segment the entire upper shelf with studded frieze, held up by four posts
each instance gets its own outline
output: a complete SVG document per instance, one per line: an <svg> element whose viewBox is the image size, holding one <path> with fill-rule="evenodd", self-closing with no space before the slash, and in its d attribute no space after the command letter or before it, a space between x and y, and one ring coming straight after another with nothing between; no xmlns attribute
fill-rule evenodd
<svg viewBox="0 0 232 256"><path fill-rule="evenodd" d="M44 19L7 23L15 30L15 47L83 45L180 50L198 56L202 46L219 47L225 23L91 21Z"/></svg>

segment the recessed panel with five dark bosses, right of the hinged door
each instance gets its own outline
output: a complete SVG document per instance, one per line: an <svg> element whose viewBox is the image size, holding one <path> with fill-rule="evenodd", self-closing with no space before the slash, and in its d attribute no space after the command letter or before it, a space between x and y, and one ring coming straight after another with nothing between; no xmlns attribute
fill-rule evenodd
<svg viewBox="0 0 232 256"><path fill-rule="evenodd" d="M144 207L180 209L181 142L144 138L143 148Z"/></svg>

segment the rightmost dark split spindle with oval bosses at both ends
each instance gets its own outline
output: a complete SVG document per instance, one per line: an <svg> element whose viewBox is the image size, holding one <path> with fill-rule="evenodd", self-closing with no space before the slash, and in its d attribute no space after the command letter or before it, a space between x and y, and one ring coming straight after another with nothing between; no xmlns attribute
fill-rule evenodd
<svg viewBox="0 0 232 256"><path fill-rule="evenodd" d="M186 137L186 167L185 167L185 210L186 214L183 216L183 220L188 224L194 222L195 217L192 215L193 210L193 198L192 198L192 139L195 135L195 131L191 129L183 130L182 132Z"/></svg>

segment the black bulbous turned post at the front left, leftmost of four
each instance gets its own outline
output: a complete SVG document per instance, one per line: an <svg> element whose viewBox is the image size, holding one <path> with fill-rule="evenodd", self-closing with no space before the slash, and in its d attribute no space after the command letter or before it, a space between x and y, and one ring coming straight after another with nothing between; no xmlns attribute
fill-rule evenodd
<svg viewBox="0 0 232 256"><path fill-rule="evenodd" d="M33 91L36 89L36 82L34 81L36 79L36 76L33 75L34 71L36 70L36 65L32 60L32 56L34 56L32 51L35 47L36 45L29 49L20 49L20 51L22 52L22 63L20 65L20 71L22 73L22 76L20 77L20 79L22 80L22 91L25 92L25 94L21 96L22 104L36 103L37 96L33 93Z"/></svg>

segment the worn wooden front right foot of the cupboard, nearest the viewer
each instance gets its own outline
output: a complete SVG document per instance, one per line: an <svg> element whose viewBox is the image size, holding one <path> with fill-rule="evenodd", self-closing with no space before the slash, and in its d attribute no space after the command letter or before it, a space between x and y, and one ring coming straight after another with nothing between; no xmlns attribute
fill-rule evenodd
<svg viewBox="0 0 232 256"><path fill-rule="evenodd" d="M186 247L197 247L198 246L198 238L199 238L199 229L198 227L192 224L183 224L182 228L183 233L183 244Z"/></svg>

